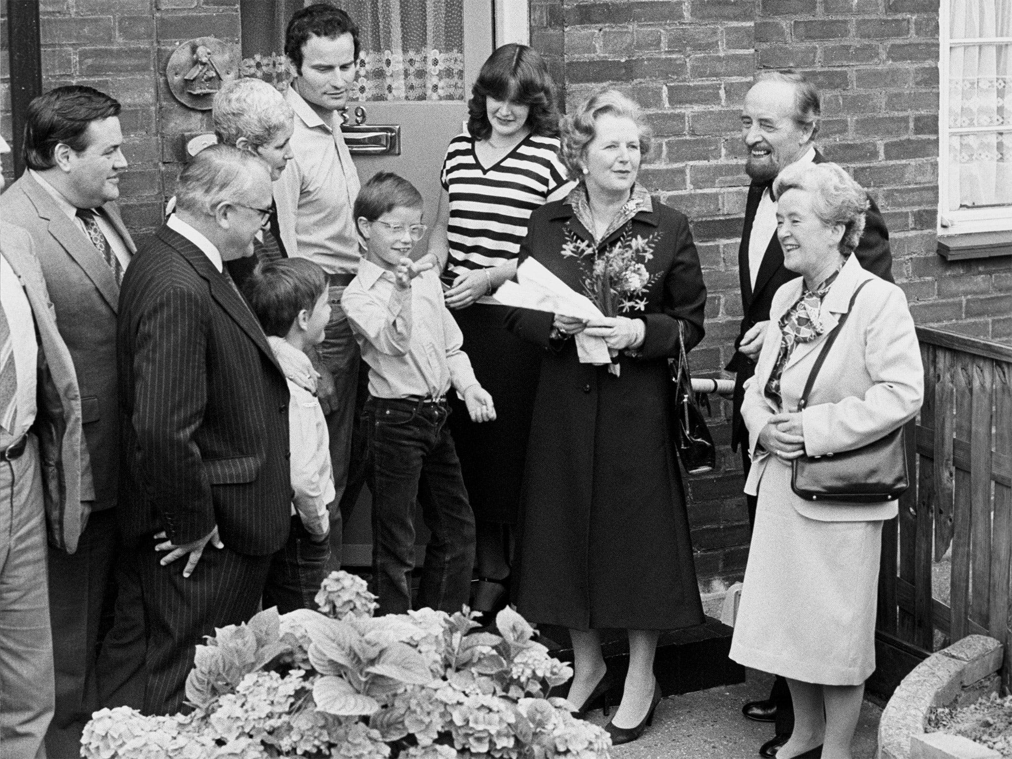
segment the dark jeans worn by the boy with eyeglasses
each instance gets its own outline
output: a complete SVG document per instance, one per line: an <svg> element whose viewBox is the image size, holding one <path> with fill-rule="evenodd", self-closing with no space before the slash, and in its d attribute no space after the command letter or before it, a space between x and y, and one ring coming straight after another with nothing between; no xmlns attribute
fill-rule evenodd
<svg viewBox="0 0 1012 759"><path fill-rule="evenodd" d="M432 535L425 551L420 607L452 613L468 602L475 564L475 517L446 426L449 407L369 397L362 423L372 491L372 592L377 614L411 608L415 499Z"/></svg>

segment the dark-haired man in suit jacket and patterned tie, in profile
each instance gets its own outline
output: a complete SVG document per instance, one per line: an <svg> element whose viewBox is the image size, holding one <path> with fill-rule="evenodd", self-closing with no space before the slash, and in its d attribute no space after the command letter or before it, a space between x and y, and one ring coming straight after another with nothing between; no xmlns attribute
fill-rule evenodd
<svg viewBox="0 0 1012 759"><path fill-rule="evenodd" d="M0 196L0 215L31 235L41 264L77 371L90 462L82 472L77 551L49 550L57 701L47 748L54 756L80 751L81 731L102 705L107 674L95 648L118 553L116 311L135 251L116 204L126 169L119 110L116 100L91 87L57 87L36 97L26 114L28 169ZM125 643L116 668L136 671L144 650Z"/></svg>

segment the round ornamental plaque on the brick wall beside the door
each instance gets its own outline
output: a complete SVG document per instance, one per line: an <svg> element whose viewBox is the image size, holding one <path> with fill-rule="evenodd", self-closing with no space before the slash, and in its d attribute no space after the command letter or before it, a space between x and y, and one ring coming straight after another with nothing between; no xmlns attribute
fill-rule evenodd
<svg viewBox="0 0 1012 759"><path fill-rule="evenodd" d="M176 48L165 78L173 96L188 108L210 110L215 94L238 75L239 46L213 36L187 39Z"/></svg>

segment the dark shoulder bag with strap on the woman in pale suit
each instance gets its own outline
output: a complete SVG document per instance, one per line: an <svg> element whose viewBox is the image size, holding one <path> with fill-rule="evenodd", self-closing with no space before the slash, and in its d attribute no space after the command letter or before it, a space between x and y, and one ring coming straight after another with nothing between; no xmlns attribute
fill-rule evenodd
<svg viewBox="0 0 1012 759"><path fill-rule="evenodd" d="M840 317L836 327L827 336L826 344L816 358L809 380L805 384L805 391L797 402L797 411L803 411L808 405L809 394L815 385L819 369L822 368L826 355L833 347L844 322L854 310L857 293L867 283L868 280L865 279L854 290L854 296L850 299L850 308ZM826 453L821 456L803 455L793 459L790 474L790 489L807 501L881 503L899 498L909 486L903 427L897 427L874 442L853 450Z"/></svg>

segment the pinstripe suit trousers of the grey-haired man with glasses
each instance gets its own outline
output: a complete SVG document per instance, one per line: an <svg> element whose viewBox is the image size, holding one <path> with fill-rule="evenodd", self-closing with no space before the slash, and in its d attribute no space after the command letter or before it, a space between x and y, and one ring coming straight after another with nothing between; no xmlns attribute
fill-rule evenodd
<svg viewBox="0 0 1012 759"><path fill-rule="evenodd" d="M147 544L146 544L147 543ZM260 605L271 556L237 554L209 543L193 574L183 577L186 557L167 567L155 540L142 540L137 568L148 629L145 714L174 714L183 701L194 647L215 627L248 621ZM146 550L150 547L151 550Z"/></svg>

